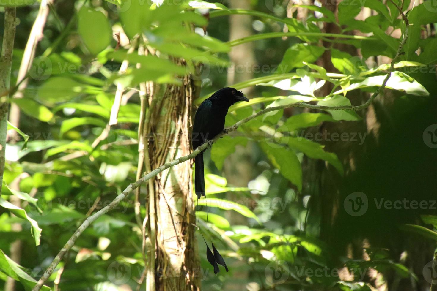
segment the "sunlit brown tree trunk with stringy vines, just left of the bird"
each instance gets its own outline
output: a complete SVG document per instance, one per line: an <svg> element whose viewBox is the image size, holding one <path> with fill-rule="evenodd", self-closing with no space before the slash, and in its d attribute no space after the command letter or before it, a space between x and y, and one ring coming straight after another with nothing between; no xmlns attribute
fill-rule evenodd
<svg viewBox="0 0 437 291"><path fill-rule="evenodd" d="M179 62L181 63L181 62ZM197 89L185 76L182 86L169 85L151 110L149 161L152 168L191 152L191 106ZM163 171L149 187L149 239L154 253L147 277L154 290L200 290L200 260L194 236L195 216L191 163ZM154 283L153 283L154 280ZM153 288L154 285L154 288Z"/></svg>

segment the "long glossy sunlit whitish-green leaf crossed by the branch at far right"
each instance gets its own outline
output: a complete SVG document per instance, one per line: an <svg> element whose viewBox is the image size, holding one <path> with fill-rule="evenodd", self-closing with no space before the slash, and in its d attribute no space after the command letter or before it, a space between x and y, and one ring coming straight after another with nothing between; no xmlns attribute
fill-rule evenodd
<svg viewBox="0 0 437 291"><path fill-rule="evenodd" d="M341 94L343 92L366 87L379 87L381 86L385 77L386 75L368 77L364 81L353 83L340 91L334 92L334 94ZM423 87L419 82L411 78L409 75L398 71L392 72L392 75L388 79L385 87L388 89L399 90L402 92L406 92L407 94L416 96L430 95L427 89L425 89L425 87Z"/></svg>

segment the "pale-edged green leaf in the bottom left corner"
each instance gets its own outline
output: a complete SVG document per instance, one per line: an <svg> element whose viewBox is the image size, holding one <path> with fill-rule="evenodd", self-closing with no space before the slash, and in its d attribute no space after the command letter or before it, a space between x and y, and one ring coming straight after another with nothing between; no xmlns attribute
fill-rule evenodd
<svg viewBox="0 0 437 291"><path fill-rule="evenodd" d="M15 281L21 282L25 290L31 290L37 281L29 276L28 273L24 271L24 267L15 263L10 257L8 257L3 250L0 250L0 271L11 277ZM42 286L41 290L50 291L51 289L45 285Z"/></svg>

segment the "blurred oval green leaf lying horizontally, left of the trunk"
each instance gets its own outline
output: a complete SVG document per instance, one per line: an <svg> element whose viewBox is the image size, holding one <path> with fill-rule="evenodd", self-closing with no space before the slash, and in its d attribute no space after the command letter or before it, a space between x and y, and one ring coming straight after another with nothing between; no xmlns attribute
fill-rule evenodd
<svg viewBox="0 0 437 291"><path fill-rule="evenodd" d="M65 102L83 90L82 84L66 77L49 78L39 87L37 96L43 103Z"/></svg>

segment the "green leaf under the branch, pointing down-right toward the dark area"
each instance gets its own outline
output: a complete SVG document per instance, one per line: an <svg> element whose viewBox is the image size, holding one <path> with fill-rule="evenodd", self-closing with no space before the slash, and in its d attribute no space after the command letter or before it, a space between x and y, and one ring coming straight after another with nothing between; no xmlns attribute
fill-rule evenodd
<svg viewBox="0 0 437 291"><path fill-rule="evenodd" d="M288 145L291 148L301 151L308 157L327 161L329 164L333 165L334 168L337 169L340 175L342 176L344 175L343 164L341 164L337 155L325 151L324 150L325 146L323 144L319 144L314 141L307 140L304 137L289 137Z"/></svg>

